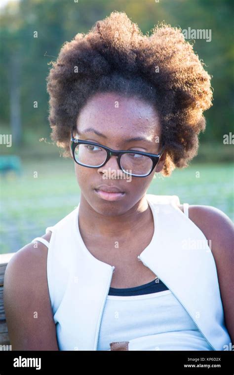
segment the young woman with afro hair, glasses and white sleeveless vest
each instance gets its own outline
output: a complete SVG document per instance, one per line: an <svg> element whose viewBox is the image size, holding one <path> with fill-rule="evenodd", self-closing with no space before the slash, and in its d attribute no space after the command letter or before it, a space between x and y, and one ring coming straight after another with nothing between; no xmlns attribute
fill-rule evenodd
<svg viewBox="0 0 234 375"><path fill-rule="evenodd" d="M113 12L63 45L47 89L80 202L7 265L13 350L231 350L232 221L147 194L155 173L188 166L205 129L210 76L192 45Z"/></svg>

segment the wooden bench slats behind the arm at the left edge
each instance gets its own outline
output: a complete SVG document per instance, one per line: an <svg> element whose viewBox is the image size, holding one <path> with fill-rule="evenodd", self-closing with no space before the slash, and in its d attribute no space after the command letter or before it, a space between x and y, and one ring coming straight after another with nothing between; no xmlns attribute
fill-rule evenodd
<svg viewBox="0 0 234 375"><path fill-rule="evenodd" d="M0 254L0 345L10 345L3 304L3 281L7 263L14 254Z"/></svg>

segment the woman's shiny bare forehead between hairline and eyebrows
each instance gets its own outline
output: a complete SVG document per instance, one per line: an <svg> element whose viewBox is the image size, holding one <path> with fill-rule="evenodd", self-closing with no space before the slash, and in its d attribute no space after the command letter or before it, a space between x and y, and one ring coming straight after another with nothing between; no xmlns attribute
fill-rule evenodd
<svg viewBox="0 0 234 375"><path fill-rule="evenodd" d="M82 133L89 127L108 138L144 135L151 139L160 133L159 118L152 104L117 93L96 94L88 100L78 115L77 128Z"/></svg>

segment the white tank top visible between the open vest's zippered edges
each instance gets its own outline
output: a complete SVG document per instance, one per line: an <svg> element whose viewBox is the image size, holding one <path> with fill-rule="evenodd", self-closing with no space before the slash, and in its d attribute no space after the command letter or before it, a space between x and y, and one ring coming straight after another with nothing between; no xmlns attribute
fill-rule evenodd
<svg viewBox="0 0 234 375"><path fill-rule="evenodd" d="M129 340L129 350L213 350L170 290L107 297L97 350Z"/></svg>

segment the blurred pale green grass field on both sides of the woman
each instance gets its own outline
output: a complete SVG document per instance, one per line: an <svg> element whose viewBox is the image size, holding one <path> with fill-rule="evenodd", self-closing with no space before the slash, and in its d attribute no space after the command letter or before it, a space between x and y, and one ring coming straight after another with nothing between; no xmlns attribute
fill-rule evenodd
<svg viewBox="0 0 234 375"><path fill-rule="evenodd" d="M15 252L43 235L47 226L54 225L79 202L71 159L25 160L22 166L20 177L12 173L1 177L0 254ZM148 193L178 195L181 203L214 206L234 221L233 164L192 164L174 170L169 178L159 176L153 179Z"/></svg>

